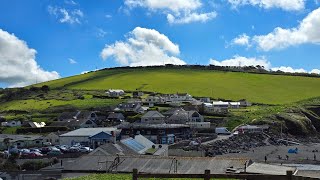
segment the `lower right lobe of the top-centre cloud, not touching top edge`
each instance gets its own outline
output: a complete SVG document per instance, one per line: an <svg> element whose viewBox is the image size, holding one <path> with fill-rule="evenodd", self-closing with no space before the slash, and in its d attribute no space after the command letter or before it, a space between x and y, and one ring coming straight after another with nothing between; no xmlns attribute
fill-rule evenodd
<svg viewBox="0 0 320 180"><path fill-rule="evenodd" d="M167 15L167 20L170 24L188 24L192 22L207 22L213 18L217 17L216 12L209 12L209 13L203 13L203 14L198 14L198 13L190 13L186 14L185 16L182 17L175 17L172 14Z"/></svg>

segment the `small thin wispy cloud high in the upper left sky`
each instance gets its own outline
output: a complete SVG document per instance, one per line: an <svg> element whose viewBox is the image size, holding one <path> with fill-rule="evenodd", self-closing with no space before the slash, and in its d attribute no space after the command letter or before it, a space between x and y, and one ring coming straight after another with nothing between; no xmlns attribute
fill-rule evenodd
<svg viewBox="0 0 320 180"><path fill-rule="evenodd" d="M80 9L67 10L61 7L48 6L50 15L55 16L60 23L81 24L84 14Z"/></svg>

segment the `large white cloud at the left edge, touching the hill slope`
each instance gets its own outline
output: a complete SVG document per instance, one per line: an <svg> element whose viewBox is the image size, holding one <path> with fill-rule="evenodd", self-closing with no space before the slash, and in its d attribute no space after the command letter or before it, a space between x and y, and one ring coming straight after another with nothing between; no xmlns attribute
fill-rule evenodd
<svg viewBox="0 0 320 180"><path fill-rule="evenodd" d="M60 78L56 71L43 70L35 56L26 42L0 29L0 82L17 87Z"/></svg>

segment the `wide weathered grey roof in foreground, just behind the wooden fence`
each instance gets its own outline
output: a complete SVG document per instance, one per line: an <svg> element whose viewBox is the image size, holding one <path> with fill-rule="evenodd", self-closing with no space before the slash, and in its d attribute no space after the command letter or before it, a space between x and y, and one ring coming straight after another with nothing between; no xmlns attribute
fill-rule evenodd
<svg viewBox="0 0 320 180"><path fill-rule="evenodd" d="M64 170L106 171L106 163L113 162L116 156L81 156L73 162L64 163ZM178 160L178 173L203 174L205 169L211 173L225 173L227 168L243 169L249 159L243 158L208 158L208 157L158 157L158 156L120 156L118 172L132 172L136 168L143 173L169 173L172 161ZM171 168L171 173L173 169Z"/></svg>

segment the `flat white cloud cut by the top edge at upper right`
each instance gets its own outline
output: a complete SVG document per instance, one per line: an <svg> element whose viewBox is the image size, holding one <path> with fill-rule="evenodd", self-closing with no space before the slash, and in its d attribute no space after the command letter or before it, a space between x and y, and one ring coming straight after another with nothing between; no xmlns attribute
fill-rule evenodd
<svg viewBox="0 0 320 180"><path fill-rule="evenodd" d="M305 8L306 0L228 0L233 8L244 5L259 6L264 9L280 8L285 11L299 11Z"/></svg>

